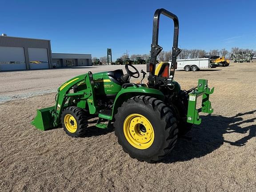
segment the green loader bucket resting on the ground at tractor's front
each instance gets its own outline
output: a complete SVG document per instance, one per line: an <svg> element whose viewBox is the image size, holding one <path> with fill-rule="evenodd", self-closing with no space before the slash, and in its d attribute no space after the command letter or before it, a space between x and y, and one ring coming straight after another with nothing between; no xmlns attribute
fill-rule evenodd
<svg viewBox="0 0 256 192"><path fill-rule="evenodd" d="M54 117L52 116L52 111L54 111L53 107L37 109L37 115L34 120L32 120L31 124L36 128L45 131L51 128L54 128Z"/></svg>

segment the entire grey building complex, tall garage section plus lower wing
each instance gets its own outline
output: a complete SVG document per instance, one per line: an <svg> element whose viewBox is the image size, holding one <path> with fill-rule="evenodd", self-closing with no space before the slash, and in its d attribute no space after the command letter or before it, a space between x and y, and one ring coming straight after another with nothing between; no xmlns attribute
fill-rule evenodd
<svg viewBox="0 0 256 192"><path fill-rule="evenodd" d="M90 54L52 54L50 40L0 36L0 71L91 65Z"/></svg>

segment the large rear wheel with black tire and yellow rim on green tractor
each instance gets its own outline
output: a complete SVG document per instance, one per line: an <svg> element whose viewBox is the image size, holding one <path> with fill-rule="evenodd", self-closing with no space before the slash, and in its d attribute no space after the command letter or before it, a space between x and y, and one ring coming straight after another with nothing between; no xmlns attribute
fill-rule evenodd
<svg viewBox="0 0 256 192"><path fill-rule="evenodd" d="M172 109L149 96L136 96L125 101L115 115L114 127L124 152L148 163L164 158L178 138Z"/></svg>

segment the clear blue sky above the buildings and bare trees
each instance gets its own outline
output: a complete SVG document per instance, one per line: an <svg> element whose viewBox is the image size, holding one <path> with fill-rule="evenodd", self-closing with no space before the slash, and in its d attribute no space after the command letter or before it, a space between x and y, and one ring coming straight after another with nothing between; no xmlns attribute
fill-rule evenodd
<svg viewBox="0 0 256 192"><path fill-rule="evenodd" d="M149 53L157 8L180 21L179 47L256 49L255 0L1 0L0 33L49 39L52 52L106 56L115 60ZM173 23L160 18L159 44L172 49Z"/></svg>

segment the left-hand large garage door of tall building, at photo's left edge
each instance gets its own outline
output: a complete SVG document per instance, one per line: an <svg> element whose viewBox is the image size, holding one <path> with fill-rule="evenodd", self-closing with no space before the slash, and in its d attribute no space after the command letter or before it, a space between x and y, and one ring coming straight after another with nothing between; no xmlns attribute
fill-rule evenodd
<svg viewBox="0 0 256 192"><path fill-rule="evenodd" d="M26 69L24 48L0 47L0 71Z"/></svg>

